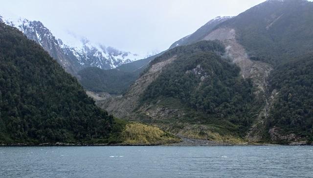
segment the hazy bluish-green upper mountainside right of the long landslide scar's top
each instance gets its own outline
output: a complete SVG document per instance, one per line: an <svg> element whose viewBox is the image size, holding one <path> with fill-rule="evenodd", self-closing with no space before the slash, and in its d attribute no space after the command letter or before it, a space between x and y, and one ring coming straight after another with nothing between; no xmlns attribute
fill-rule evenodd
<svg viewBox="0 0 313 178"><path fill-rule="evenodd" d="M217 27L235 28L253 60L278 65L313 50L313 2L270 0Z"/></svg>

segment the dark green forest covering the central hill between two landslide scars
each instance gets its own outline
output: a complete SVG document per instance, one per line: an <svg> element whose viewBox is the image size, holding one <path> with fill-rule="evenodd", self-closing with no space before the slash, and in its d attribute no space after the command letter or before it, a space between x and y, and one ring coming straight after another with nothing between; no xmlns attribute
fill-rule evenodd
<svg viewBox="0 0 313 178"><path fill-rule="evenodd" d="M179 46L156 58L161 61L178 54L146 89L142 101L160 98L179 99L185 105L200 111L206 123L229 121L244 133L258 111L250 80L240 76L240 68L221 57L224 46L217 41L201 41ZM259 103L260 104L260 103Z"/></svg>

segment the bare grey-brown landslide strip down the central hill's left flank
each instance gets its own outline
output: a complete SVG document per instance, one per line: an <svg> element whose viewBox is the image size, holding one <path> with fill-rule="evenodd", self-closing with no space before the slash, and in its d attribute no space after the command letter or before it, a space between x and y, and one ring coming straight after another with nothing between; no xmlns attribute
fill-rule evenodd
<svg viewBox="0 0 313 178"><path fill-rule="evenodd" d="M140 76L134 84L130 87L129 91L125 93L122 98L110 98L108 100L99 101L97 104L101 108L113 113L117 117L125 118L130 117L132 111L138 107L138 100L143 94L144 90L158 77L162 72L162 68L172 63L176 56L152 65L148 72Z"/></svg>

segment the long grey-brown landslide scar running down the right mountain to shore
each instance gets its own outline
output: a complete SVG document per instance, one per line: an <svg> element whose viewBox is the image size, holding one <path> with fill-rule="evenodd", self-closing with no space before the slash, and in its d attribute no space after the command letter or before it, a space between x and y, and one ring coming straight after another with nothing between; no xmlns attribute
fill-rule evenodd
<svg viewBox="0 0 313 178"><path fill-rule="evenodd" d="M236 40L235 29L218 28L204 37L203 40L220 40L226 46L226 55L241 68L241 75L244 78L251 78L257 90L254 92L256 97L265 100L264 108L261 110L255 122L248 132L246 139L251 142L258 142L262 139L263 132L266 129L266 119L276 96L276 91L267 97L268 75L273 69L268 63L250 60L245 48Z"/></svg>

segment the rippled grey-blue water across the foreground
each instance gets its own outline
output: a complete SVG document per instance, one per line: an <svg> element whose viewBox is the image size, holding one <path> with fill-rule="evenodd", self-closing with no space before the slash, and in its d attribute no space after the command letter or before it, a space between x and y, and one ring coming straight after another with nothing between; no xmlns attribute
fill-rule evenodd
<svg viewBox="0 0 313 178"><path fill-rule="evenodd" d="M0 147L0 177L313 177L313 146Z"/></svg>

